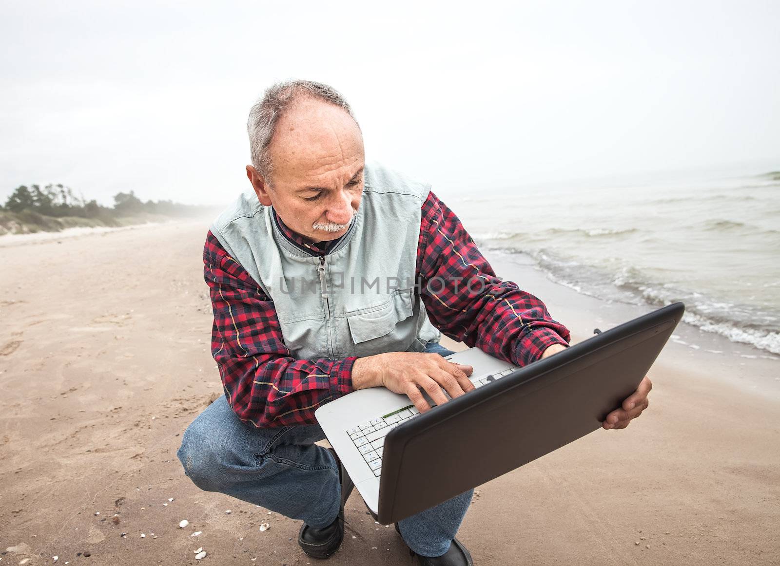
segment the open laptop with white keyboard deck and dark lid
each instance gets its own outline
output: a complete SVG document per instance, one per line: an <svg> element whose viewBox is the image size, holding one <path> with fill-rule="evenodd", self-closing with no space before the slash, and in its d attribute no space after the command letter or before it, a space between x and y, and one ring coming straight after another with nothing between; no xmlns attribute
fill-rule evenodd
<svg viewBox="0 0 780 566"><path fill-rule="evenodd" d="M600 429L684 310L676 302L522 368L478 348L457 352L446 359L473 366L476 389L425 414L371 387L314 415L371 514L389 525Z"/></svg>

